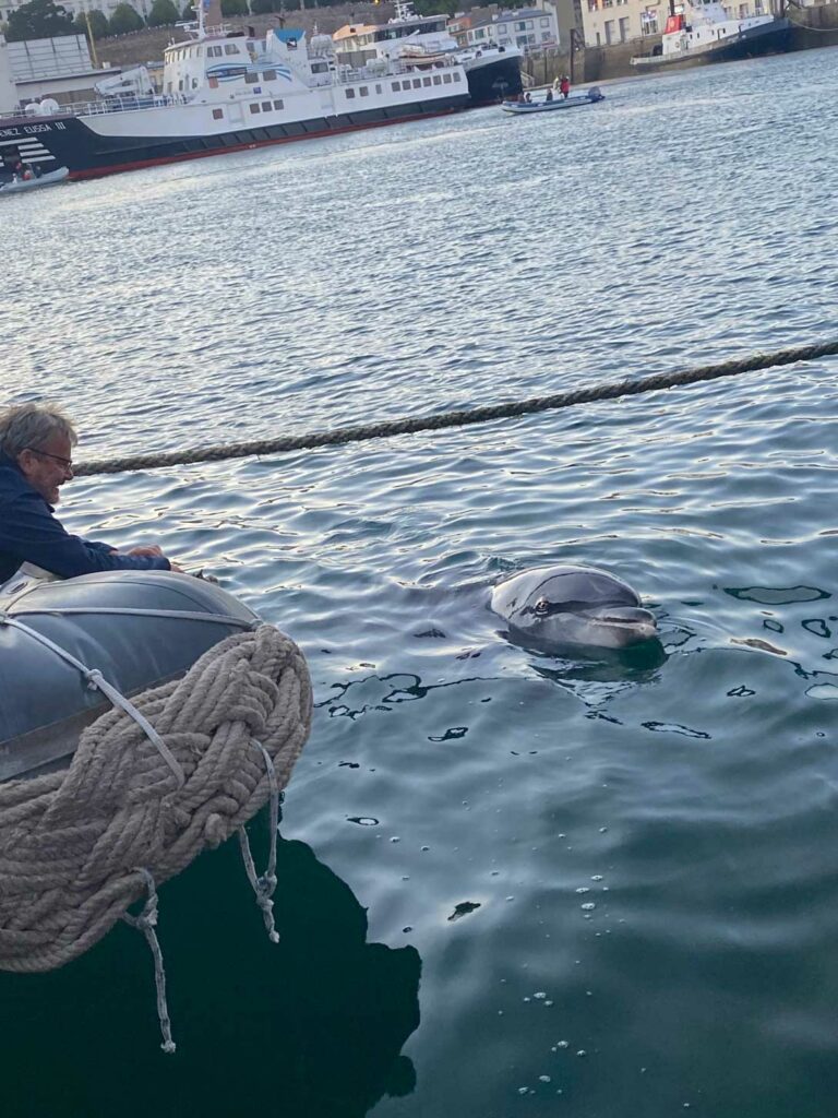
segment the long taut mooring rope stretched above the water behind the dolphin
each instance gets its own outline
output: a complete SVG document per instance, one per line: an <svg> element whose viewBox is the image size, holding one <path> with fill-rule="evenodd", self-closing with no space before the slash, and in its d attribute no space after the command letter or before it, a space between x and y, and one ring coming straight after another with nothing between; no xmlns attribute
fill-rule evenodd
<svg viewBox="0 0 838 1118"><path fill-rule="evenodd" d="M75 467L77 476L89 474L116 474L134 470L156 470L162 466L189 465L198 462L222 462L228 458L246 458L260 454L282 454L289 451L308 451L320 446L340 446L344 443L362 443L373 438L393 435L412 435L422 430L442 430L446 427L466 427L472 424L488 423L493 419L511 419L569 408L577 404L592 404L598 400L615 400L622 396L639 396L664 388L678 388L704 380L722 377L737 377L744 372L756 372L799 361L815 361L818 358L838 354L838 340L818 345L801 345L796 349L778 350L775 353L756 353L736 361L721 364L699 366L680 372L655 373L650 377L607 381L578 388L553 396L535 396L526 400L511 400L506 404L488 405L447 411L440 415L413 416L404 419L382 420L362 427L339 427L336 430L313 432L311 435L288 435L279 438L264 438L250 443L230 443L222 446L196 447L192 451L172 451L161 454L134 454L123 458L99 458L82 462Z"/></svg>

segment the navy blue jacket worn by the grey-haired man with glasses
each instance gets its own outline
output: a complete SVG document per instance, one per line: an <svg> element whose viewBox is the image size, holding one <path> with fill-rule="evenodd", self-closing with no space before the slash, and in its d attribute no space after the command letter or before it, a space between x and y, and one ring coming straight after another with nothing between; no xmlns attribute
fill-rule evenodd
<svg viewBox="0 0 838 1118"><path fill-rule="evenodd" d="M0 455L0 584L23 562L59 578L98 570L169 570L168 559L112 555L108 543L70 536L53 512L53 505L32 489L18 464Z"/></svg>

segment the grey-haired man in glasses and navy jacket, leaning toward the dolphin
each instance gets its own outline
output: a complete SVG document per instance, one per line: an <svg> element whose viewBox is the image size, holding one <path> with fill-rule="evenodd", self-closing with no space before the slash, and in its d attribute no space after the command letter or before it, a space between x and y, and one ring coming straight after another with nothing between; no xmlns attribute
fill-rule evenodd
<svg viewBox="0 0 838 1118"><path fill-rule="evenodd" d="M0 587L23 563L58 578L99 570L179 570L156 546L117 551L70 536L54 515L73 477L70 421L56 408L20 404L0 410Z"/></svg>

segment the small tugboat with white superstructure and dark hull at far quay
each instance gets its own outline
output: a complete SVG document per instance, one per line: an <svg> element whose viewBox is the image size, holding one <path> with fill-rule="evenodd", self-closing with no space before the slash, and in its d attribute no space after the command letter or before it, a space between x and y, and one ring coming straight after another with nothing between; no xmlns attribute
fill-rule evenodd
<svg viewBox="0 0 838 1118"><path fill-rule="evenodd" d="M669 16L659 47L637 55L631 65L657 70L736 61L789 49L791 22L778 16L733 19L720 0L669 0Z"/></svg>

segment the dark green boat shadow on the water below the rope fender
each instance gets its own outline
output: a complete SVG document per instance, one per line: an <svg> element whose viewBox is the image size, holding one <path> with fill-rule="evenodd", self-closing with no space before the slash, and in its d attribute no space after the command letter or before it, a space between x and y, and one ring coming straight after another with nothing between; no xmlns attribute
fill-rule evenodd
<svg viewBox="0 0 838 1118"><path fill-rule="evenodd" d="M411 1092L401 1049L419 1025L418 953L368 942L366 910L305 843L280 840L277 879L278 946L232 843L161 891L174 1057L156 1046L146 948L125 927L61 970L0 975L15 1021L4 1112L354 1118Z"/></svg>

